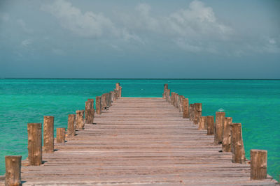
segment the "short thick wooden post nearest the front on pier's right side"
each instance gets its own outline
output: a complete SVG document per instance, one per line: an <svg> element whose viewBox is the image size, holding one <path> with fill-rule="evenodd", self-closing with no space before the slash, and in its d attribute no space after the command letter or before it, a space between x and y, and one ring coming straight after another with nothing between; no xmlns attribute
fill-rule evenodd
<svg viewBox="0 0 280 186"><path fill-rule="evenodd" d="M250 150L251 180L264 180L267 178L267 150Z"/></svg>

